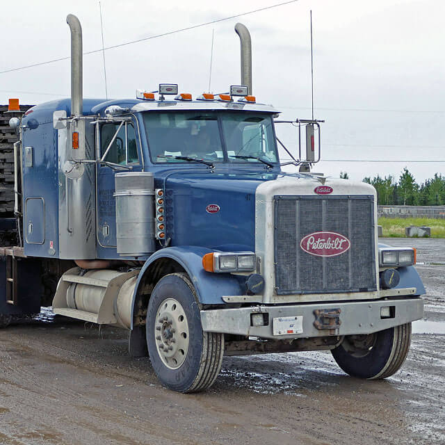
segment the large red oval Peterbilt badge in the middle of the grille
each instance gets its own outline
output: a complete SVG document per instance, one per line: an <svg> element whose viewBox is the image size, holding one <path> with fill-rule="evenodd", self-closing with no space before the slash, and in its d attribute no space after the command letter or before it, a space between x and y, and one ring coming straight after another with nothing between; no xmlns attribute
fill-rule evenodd
<svg viewBox="0 0 445 445"><path fill-rule="evenodd" d="M316 257L335 257L350 248L350 241L334 232L314 232L302 238L300 248Z"/></svg>

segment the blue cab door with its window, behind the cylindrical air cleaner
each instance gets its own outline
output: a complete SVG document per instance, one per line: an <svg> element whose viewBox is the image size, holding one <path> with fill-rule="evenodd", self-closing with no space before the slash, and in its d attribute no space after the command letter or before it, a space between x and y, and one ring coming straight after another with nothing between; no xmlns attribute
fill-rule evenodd
<svg viewBox="0 0 445 445"><path fill-rule="evenodd" d="M105 248L116 247L114 175L141 171L136 121L113 120L99 124L97 150L97 241Z"/></svg>

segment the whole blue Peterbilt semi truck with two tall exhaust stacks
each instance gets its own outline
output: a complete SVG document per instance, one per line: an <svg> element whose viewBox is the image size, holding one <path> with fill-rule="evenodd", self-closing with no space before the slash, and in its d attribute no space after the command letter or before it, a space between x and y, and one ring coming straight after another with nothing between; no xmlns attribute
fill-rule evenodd
<svg viewBox="0 0 445 445"><path fill-rule="evenodd" d="M378 244L372 186L311 172L320 121L291 122L306 147L282 170L283 121L252 95L245 26L227 94L161 83L104 100L83 99L81 24L67 23L71 99L12 102L2 327L41 305L122 327L129 355L184 393L209 388L224 355L330 350L355 377L396 373L423 316L416 252Z"/></svg>

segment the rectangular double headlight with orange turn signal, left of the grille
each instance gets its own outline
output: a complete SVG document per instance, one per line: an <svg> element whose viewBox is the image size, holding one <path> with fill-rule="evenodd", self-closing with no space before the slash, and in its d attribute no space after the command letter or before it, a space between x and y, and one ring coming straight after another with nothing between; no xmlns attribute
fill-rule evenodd
<svg viewBox="0 0 445 445"><path fill-rule="evenodd" d="M244 272L257 268L257 255L253 252L211 252L202 257L207 272Z"/></svg>

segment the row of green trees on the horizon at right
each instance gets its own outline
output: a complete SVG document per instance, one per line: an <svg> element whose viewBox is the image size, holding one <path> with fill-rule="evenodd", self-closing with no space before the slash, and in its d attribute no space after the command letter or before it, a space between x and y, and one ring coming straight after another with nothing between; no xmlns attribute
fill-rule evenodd
<svg viewBox="0 0 445 445"><path fill-rule="evenodd" d="M340 177L348 178L341 172ZM365 177L363 182L371 184L377 191L380 205L440 206L445 204L445 177L435 173L434 177L417 184L407 168L398 180L394 176Z"/></svg>

